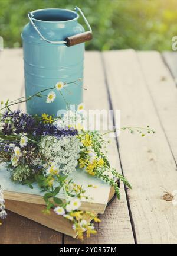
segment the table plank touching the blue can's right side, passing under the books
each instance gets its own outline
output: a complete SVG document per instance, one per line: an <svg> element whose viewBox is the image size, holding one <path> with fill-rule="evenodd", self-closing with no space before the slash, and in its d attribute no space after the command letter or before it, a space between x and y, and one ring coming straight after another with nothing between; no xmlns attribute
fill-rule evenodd
<svg viewBox="0 0 177 256"><path fill-rule="evenodd" d="M109 109L108 95L104 80L101 55L98 52L86 52L86 68L84 87L84 103L87 110ZM103 120L104 121L104 120ZM116 140L112 138L109 147L109 159L113 167L121 172ZM133 244L133 233L127 208L126 195L121 184L121 200L114 200L104 215L100 215L101 223L96 224L97 235L84 239L83 244ZM81 244L82 242L64 236L64 244Z"/></svg>

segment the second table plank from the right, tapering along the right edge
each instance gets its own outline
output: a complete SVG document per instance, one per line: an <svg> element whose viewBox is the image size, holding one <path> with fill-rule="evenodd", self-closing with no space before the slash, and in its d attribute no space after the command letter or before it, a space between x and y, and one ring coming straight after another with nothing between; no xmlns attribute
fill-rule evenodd
<svg viewBox="0 0 177 256"><path fill-rule="evenodd" d="M175 82L163 63L160 53L139 52L138 57L153 104L177 163L177 89Z"/></svg>

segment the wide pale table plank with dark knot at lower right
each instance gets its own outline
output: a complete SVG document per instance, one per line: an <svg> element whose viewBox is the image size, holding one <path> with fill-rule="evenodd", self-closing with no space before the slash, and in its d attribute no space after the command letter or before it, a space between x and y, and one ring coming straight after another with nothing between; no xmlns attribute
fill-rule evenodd
<svg viewBox="0 0 177 256"><path fill-rule="evenodd" d="M177 208L161 199L164 191L176 190L176 165L137 54L122 50L103 55L113 107L121 110L122 126L150 125L156 130L154 136L122 132L119 137L123 171L133 186L128 195L137 243L176 243Z"/></svg>

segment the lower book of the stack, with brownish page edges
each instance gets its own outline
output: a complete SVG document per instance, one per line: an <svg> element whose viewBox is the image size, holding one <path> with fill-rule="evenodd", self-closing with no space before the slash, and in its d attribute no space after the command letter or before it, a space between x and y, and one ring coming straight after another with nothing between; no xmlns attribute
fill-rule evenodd
<svg viewBox="0 0 177 256"><path fill-rule="evenodd" d="M111 188L108 201L113 199L114 192L114 189ZM69 235L73 238L76 238L77 236L77 232L72 228L72 222L70 222L70 220L56 215L53 210L51 210L50 215L44 215L42 210L45 209L45 206L40 204L24 203L15 200L6 200L5 206L6 209L10 210L11 212L34 220L35 222L47 226L48 228L54 229L55 231L64 233L65 235ZM97 214L95 216L97 216ZM92 219L87 220L91 222Z"/></svg>

